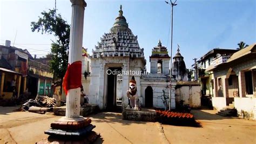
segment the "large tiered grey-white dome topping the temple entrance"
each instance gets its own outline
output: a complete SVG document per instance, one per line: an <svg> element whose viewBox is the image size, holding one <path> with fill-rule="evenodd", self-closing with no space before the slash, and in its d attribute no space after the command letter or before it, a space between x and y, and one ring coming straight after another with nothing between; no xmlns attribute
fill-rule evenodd
<svg viewBox="0 0 256 144"><path fill-rule="evenodd" d="M132 58L144 58L144 49L139 47L137 35L126 23L120 5L119 16L116 18L109 33L104 33L95 50L92 49L92 57L130 56Z"/></svg>

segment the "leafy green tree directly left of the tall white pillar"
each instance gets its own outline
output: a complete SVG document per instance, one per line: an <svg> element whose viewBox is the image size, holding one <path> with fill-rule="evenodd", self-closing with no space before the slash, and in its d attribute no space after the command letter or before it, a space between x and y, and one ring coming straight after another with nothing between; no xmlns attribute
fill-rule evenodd
<svg viewBox="0 0 256 144"><path fill-rule="evenodd" d="M53 80L60 80L62 83L68 67L70 25L60 14L56 15L55 9L43 11L41 15L42 17L39 17L37 22L31 22L31 30L55 35L56 42L51 40L50 69L53 73ZM60 85L60 92L62 92L62 85Z"/></svg>

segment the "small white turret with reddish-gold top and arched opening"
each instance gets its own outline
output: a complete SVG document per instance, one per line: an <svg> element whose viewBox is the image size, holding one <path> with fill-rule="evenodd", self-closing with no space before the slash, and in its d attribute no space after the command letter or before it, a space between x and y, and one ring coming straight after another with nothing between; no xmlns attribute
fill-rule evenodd
<svg viewBox="0 0 256 144"><path fill-rule="evenodd" d="M159 40L158 46L152 49L152 55L150 56L150 73L170 74L170 59L166 47L162 46Z"/></svg>

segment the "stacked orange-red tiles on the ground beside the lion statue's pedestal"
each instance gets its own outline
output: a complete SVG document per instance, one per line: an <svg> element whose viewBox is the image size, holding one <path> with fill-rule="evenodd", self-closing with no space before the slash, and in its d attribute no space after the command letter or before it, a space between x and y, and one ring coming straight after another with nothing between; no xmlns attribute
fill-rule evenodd
<svg viewBox="0 0 256 144"><path fill-rule="evenodd" d="M156 110L160 123L179 126L198 126L193 114Z"/></svg>

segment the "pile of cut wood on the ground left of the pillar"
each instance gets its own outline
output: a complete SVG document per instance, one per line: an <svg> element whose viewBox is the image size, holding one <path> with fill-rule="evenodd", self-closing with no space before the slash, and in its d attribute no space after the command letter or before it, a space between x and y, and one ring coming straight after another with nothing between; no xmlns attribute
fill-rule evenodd
<svg viewBox="0 0 256 144"><path fill-rule="evenodd" d="M56 100L48 96L37 96L36 99L27 100L22 106L22 111L28 111L31 106L36 107L55 107ZM49 111L52 109L48 109Z"/></svg>

